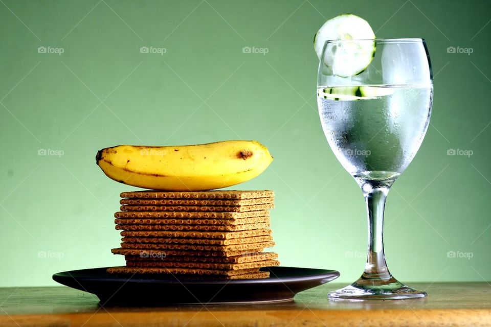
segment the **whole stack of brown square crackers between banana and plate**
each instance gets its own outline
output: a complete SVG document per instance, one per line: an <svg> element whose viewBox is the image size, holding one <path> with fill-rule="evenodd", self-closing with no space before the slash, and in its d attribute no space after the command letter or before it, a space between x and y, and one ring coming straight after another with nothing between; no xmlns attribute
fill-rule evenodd
<svg viewBox="0 0 491 327"><path fill-rule="evenodd" d="M266 278L279 265L270 209L273 191L121 193L115 214L126 266L109 273L172 273L228 279Z"/></svg>

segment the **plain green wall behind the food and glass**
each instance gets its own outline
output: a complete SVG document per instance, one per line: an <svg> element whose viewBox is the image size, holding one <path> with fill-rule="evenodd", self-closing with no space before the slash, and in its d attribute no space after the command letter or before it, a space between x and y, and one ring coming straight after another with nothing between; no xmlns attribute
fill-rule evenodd
<svg viewBox="0 0 491 327"><path fill-rule="evenodd" d="M0 286L55 285L55 272L124 264L110 252L120 242L113 214L119 193L134 189L104 176L97 150L224 139L257 139L274 156L237 188L276 192L281 264L358 278L365 206L321 129L312 44L327 18L347 12L377 37L426 38L433 64L431 126L388 197L389 268L406 282L490 280L491 3L2 0Z"/></svg>

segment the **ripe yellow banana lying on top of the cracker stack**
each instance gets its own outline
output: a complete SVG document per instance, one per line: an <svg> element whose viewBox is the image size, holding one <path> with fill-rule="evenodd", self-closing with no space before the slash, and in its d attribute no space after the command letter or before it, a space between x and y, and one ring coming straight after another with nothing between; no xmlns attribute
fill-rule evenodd
<svg viewBox="0 0 491 327"><path fill-rule="evenodd" d="M273 157L257 141L189 146L120 145L97 152L104 174L120 183L161 191L204 191L252 179Z"/></svg>

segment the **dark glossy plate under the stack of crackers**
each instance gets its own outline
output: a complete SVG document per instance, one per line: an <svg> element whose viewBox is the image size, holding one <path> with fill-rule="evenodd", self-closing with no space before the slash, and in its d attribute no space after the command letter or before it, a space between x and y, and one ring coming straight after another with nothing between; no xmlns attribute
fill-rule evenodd
<svg viewBox="0 0 491 327"><path fill-rule="evenodd" d="M161 275L108 274L106 268L58 272L53 279L93 293L101 305L170 305L202 303L258 303L292 300L295 294L339 277L335 270L270 267L269 278L195 279Z"/></svg>

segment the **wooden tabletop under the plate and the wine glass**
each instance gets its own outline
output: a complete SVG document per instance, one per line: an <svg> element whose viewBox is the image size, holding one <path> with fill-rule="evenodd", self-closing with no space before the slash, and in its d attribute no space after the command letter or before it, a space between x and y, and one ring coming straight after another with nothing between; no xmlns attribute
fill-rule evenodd
<svg viewBox="0 0 491 327"><path fill-rule="evenodd" d="M68 287L0 288L0 326L491 326L488 283L414 283L426 299L329 301L325 284L261 305L100 307ZM165 296L166 294L163 294Z"/></svg>

